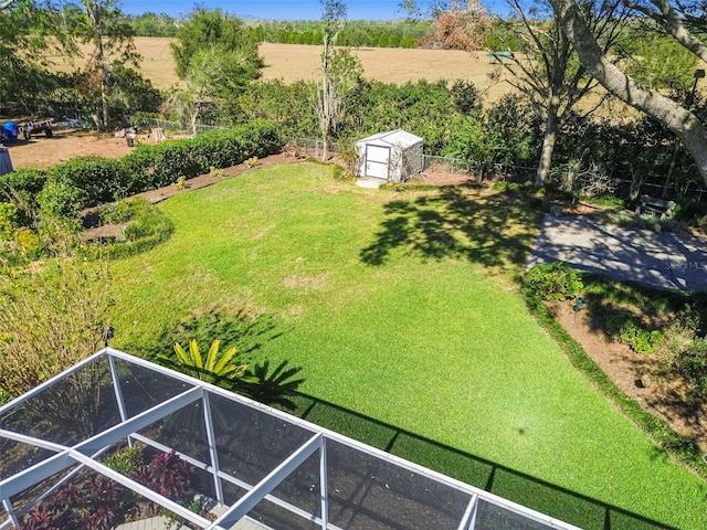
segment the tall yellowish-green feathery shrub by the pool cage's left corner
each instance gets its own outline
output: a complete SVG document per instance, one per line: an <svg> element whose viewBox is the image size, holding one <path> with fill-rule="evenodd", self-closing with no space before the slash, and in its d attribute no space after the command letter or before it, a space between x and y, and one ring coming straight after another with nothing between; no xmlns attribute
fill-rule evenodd
<svg viewBox="0 0 707 530"><path fill-rule="evenodd" d="M55 257L29 267L0 262L0 389L6 396L20 395L96 352L109 325L108 264L88 259L85 247L61 229L49 250ZM89 412L77 412L76 423Z"/></svg>

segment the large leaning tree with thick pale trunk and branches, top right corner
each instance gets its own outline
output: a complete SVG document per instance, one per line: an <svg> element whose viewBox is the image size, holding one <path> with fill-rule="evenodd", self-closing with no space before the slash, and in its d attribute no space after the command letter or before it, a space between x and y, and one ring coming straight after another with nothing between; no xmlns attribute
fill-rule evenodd
<svg viewBox="0 0 707 530"><path fill-rule="evenodd" d="M583 13L574 0L549 0L567 39L577 50L581 64L606 91L629 105L653 116L683 141L695 160L697 169L707 183L707 130L700 119L687 105L677 103L657 91L646 88L619 66L613 64L602 51ZM693 22L703 22L704 17L690 19L685 11L679 12L668 0L646 0L630 2L643 15L653 19L657 25L680 43L686 50L707 62L707 45L693 33ZM685 4L676 3L677 9ZM687 8L698 9L697 4Z"/></svg>

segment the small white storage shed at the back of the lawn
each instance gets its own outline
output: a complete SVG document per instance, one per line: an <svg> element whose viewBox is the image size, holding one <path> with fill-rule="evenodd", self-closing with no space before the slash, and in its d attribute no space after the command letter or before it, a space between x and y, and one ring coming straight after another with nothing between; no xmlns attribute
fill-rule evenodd
<svg viewBox="0 0 707 530"><path fill-rule="evenodd" d="M356 174L404 182L423 169L422 145L422 138L402 129L363 138L356 142Z"/></svg>

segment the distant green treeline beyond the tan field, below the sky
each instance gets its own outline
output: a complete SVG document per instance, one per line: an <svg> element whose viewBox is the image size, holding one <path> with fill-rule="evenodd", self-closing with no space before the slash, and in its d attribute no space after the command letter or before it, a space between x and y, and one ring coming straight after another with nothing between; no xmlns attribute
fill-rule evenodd
<svg viewBox="0 0 707 530"><path fill-rule="evenodd" d="M173 38L181 19L161 13L128 17L136 36ZM282 44L321 44L318 21L245 21L260 42ZM355 20L346 23L337 44L341 46L415 47L434 31L431 21Z"/></svg>

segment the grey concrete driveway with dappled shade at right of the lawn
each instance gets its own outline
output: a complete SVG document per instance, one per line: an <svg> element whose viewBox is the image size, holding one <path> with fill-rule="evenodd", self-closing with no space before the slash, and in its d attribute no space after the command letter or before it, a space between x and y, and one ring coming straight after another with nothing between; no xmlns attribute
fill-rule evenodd
<svg viewBox="0 0 707 530"><path fill-rule="evenodd" d="M546 214L526 268L555 261L662 289L707 290L707 239L703 237Z"/></svg>

